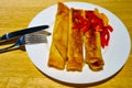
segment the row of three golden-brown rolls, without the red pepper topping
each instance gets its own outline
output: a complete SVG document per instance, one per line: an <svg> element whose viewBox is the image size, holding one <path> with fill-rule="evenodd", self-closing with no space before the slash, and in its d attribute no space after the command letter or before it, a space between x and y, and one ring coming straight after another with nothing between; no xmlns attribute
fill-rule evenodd
<svg viewBox="0 0 132 88"><path fill-rule="evenodd" d="M79 28L73 29L74 24L79 23L76 14L87 19L86 12L73 8L68 9L67 6L58 2L48 55L50 67L57 69L66 67L67 70L81 72L85 63L87 63L92 70L103 68L100 33L91 29L86 33ZM84 56L84 46L86 56Z"/></svg>

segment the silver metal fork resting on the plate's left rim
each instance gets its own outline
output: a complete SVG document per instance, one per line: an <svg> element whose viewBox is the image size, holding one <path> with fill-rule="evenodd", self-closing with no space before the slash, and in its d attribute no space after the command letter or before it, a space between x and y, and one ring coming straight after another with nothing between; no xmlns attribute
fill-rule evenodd
<svg viewBox="0 0 132 88"><path fill-rule="evenodd" d="M16 43L11 46L0 48L0 53L11 51L13 48L24 46L25 44L38 44L38 43L47 43L47 38L44 34L25 34L20 36Z"/></svg>

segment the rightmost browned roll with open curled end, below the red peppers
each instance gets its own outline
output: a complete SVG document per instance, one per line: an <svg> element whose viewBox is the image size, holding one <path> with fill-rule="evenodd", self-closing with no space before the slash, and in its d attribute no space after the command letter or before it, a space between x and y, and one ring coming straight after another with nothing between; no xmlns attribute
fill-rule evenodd
<svg viewBox="0 0 132 88"><path fill-rule="evenodd" d="M103 59L101 55L100 33L89 29L84 36L86 57L85 61L92 70L103 68Z"/></svg>

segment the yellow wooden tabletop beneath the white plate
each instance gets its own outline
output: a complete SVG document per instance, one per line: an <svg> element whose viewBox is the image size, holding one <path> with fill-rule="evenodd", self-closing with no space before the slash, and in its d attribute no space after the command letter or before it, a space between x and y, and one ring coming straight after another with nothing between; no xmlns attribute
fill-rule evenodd
<svg viewBox="0 0 132 88"><path fill-rule="evenodd" d="M118 15L132 37L132 0L0 0L0 35L26 28L40 11L58 1L85 1L99 4ZM131 88L132 52L124 67L116 76L90 85L64 84L46 77L32 64L25 51L15 50L0 54L0 88L70 87Z"/></svg>

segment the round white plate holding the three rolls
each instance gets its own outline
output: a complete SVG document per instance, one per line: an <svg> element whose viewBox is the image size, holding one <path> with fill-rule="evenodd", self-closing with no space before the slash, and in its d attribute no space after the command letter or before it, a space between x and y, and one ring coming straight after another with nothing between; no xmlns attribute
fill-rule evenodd
<svg viewBox="0 0 132 88"><path fill-rule="evenodd" d="M105 67L101 72L92 72L85 65L81 73L79 72L66 72L50 68L47 66L50 45L52 36L47 36L48 44L25 45L26 52L34 63L34 65L43 72L45 75L55 78L61 81L70 84L91 84L103 80L118 73L125 64L130 54L131 43L130 35L124 24L110 11L91 3L85 2L66 2L69 8L94 10L98 8L100 12L103 12L109 18L110 25L114 29L111 33L110 43L107 50L102 51L105 59ZM47 31L53 31L55 21L55 13L57 6L52 6L41 11L29 24L29 26L48 24L51 25Z"/></svg>

